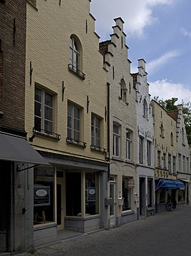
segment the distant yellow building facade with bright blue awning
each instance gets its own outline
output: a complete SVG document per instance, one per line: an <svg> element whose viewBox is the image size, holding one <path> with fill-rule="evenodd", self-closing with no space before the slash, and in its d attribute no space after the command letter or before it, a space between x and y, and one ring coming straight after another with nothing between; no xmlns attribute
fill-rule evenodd
<svg viewBox="0 0 191 256"><path fill-rule="evenodd" d="M177 123L156 101L152 100L155 147L156 212L166 211L170 198L178 202L185 185L177 181Z"/></svg>

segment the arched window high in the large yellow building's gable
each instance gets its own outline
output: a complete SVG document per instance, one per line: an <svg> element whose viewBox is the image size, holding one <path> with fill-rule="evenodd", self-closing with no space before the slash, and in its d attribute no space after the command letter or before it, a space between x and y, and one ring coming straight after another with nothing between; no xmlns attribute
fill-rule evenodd
<svg viewBox="0 0 191 256"><path fill-rule="evenodd" d="M70 64L75 71L80 69L80 48L75 37L70 37Z"/></svg>

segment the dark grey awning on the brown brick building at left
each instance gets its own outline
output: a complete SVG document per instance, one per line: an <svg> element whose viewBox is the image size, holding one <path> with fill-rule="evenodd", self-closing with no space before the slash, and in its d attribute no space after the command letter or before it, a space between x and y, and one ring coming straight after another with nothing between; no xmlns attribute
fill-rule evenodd
<svg viewBox="0 0 191 256"><path fill-rule="evenodd" d="M49 164L24 138L0 133L0 160Z"/></svg>

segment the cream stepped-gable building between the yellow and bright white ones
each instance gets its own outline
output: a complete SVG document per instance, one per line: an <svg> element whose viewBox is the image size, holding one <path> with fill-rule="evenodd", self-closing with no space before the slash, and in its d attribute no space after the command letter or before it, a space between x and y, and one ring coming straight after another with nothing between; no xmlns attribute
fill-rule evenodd
<svg viewBox="0 0 191 256"><path fill-rule="evenodd" d="M109 226L137 219L136 194L136 91L128 59L124 21L114 19L111 39L100 43L108 71L110 177Z"/></svg>

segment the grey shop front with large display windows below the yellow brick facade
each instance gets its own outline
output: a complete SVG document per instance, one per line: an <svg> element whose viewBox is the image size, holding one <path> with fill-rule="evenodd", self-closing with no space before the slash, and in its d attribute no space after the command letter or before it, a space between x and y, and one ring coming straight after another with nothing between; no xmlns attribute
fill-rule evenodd
<svg viewBox="0 0 191 256"><path fill-rule="evenodd" d="M57 231L106 228L107 164L41 152L50 167L34 169L34 247L57 239Z"/></svg>

